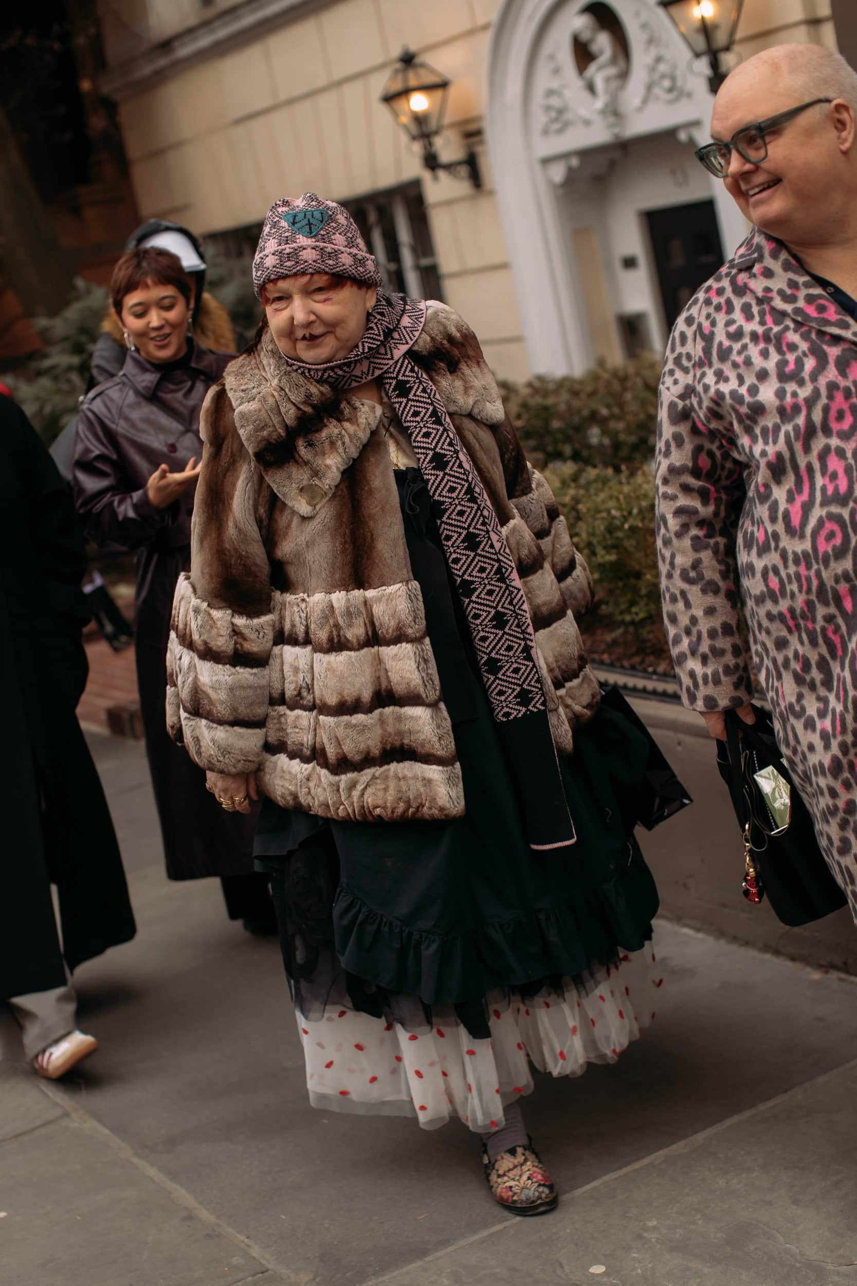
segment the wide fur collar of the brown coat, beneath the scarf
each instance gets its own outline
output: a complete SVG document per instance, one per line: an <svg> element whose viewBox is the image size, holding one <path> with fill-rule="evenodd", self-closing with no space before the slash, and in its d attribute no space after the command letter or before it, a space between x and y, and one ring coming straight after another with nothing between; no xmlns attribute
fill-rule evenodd
<svg viewBox="0 0 857 1286"><path fill-rule="evenodd" d="M500 394L477 337L452 309L429 302L410 355L451 415L502 422ZM382 408L294 370L267 328L230 363L224 382L244 446L276 495L311 518L360 455Z"/></svg>

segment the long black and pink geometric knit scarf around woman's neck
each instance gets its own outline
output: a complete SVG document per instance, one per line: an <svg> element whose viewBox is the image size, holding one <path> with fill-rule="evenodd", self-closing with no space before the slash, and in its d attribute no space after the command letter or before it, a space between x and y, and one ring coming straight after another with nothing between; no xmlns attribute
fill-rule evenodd
<svg viewBox="0 0 857 1286"><path fill-rule="evenodd" d="M441 543L470 628L493 719L506 733L502 741L508 747L513 745L508 736L513 733L509 725L520 720L517 730L522 733L526 725L527 734L523 741L520 736L514 739L518 751L514 757L523 759L520 751L531 743L531 764L538 764L543 774L543 754L535 751L537 747L543 751L546 736L552 752L552 738L527 599L500 522L470 457L434 385L410 356L424 322L425 303L421 300L379 289L362 340L347 358L328 364L284 360L301 374L331 388L356 388L370 379L380 381L436 502L433 508ZM537 729L535 742L533 728ZM559 786L563 802L556 811L542 806L542 820L536 829L546 842L533 842L531 835L531 845L540 849L574 842L561 782L558 781L555 752L549 760L552 760L556 773L550 793ZM552 778L554 774L550 775ZM527 792L529 805L535 797L543 800L543 787L542 781L535 795ZM526 808L526 813L531 811ZM531 827L528 829L532 831Z"/></svg>

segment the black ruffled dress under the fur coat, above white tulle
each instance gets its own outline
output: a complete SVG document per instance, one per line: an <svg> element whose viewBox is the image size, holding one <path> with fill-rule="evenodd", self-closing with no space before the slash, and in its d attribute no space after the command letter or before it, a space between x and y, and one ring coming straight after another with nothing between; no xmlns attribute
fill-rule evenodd
<svg viewBox="0 0 857 1286"><path fill-rule="evenodd" d="M586 989L651 937L658 894L627 811L648 743L605 709L577 729L560 763L577 842L529 847L429 494L418 469L397 482L466 814L329 822L265 800L254 854L271 873L299 1013L342 1006L419 1030L442 1006L486 1038L488 995Z"/></svg>

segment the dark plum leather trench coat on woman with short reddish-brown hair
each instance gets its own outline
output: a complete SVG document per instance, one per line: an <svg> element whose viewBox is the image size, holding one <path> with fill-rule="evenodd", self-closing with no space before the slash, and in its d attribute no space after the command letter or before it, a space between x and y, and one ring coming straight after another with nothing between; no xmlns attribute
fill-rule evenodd
<svg viewBox="0 0 857 1286"><path fill-rule="evenodd" d="M86 534L136 554L135 651L145 747L171 880L253 871L256 815L224 813L206 774L167 736L167 642L172 594L190 568L193 494L155 509L146 482L202 457L199 412L231 361L190 342L190 361L159 367L130 352L118 376L84 400L75 449L75 499Z"/></svg>

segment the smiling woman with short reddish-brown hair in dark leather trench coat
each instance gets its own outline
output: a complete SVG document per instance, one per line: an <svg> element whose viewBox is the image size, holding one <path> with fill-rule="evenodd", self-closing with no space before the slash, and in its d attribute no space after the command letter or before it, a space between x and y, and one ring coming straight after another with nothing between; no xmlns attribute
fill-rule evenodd
<svg viewBox="0 0 857 1286"><path fill-rule="evenodd" d="M230 917L271 931L270 896L253 873L253 819L225 826L203 773L163 721L172 593L190 565L199 410L231 354L194 338L193 287L176 255L152 247L123 255L110 297L127 356L81 405L75 495L91 539L136 553L137 687L167 874L220 876Z"/></svg>

